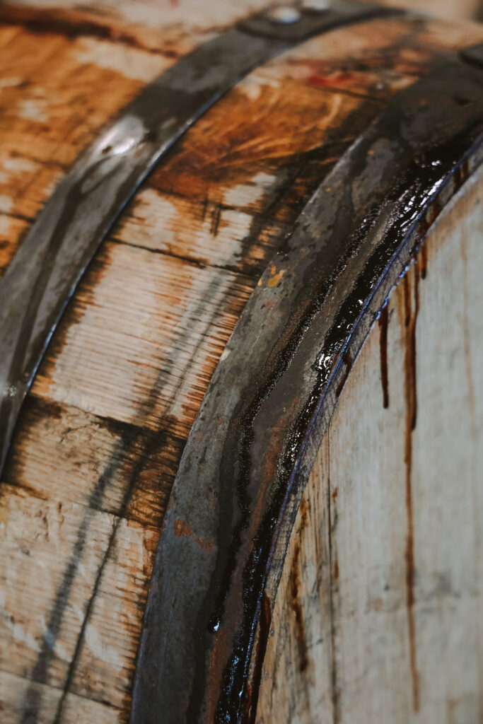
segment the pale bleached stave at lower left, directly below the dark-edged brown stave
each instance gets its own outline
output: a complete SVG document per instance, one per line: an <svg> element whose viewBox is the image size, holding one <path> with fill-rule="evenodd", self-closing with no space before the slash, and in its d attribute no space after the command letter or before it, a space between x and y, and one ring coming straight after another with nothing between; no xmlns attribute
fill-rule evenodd
<svg viewBox="0 0 483 724"><path fill-rule="evenodd" d="M158 537L2 484L0 670L62 688L97 586L71 691L122 708Z"/></svg>

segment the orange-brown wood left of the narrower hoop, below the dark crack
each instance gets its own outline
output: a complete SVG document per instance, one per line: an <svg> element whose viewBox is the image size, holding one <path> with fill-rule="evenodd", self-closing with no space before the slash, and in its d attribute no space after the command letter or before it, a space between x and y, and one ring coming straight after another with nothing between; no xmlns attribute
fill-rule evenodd
<svg viewBox="0 0 483 724"><path fill-rule="evenodd" d="M84 41L58 35L39 42L20 26L2 26L0 12L2 228L12 219L3 269L25 233L25 222L35 217L80 151L167 65L160 58L146 61L131 49L114 54L109 64L96 64L109 52L104 46L91 41L87 48ZM138 77L132 67L138 68Z"/></svg>

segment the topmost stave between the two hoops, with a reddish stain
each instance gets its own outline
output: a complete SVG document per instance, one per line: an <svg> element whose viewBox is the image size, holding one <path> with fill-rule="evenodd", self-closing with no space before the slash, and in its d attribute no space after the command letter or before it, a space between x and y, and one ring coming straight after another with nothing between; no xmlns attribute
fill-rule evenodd
<svg viewBox="0 0 483 724"><path fill-rule="evenodd" d="M302 92L318 87L384 101L424 75L435 53L479 43L482 35L473 22L450 24L417 15L375 19L311 38L254 75L269 83L283 74Z"/></svg>

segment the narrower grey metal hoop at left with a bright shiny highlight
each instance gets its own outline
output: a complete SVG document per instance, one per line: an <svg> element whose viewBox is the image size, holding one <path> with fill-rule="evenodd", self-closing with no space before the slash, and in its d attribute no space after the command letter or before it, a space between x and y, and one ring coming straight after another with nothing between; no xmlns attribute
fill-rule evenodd
<svg viewBox="0 0 483 724"><path fill-rule="evenodd" d="M175 141L241 77L283 50L387 9L337 2L257 14L199 46L148 85L76 161L0 282L0 473L35 371L112 224Z"/></svg>

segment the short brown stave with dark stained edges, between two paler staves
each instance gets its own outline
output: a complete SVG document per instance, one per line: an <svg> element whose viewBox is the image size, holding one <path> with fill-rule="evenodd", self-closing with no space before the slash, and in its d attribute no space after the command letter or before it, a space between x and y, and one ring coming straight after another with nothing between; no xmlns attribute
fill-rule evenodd
<svg viewBox="0 0 483 724"><path fill-rule="evenodd" d="M32 396L4 479L41 500L89 505L158 529L184 443L159 434L148 447L145 437L134 426ZM109 486L101 492L108 467Z"/></svg>

